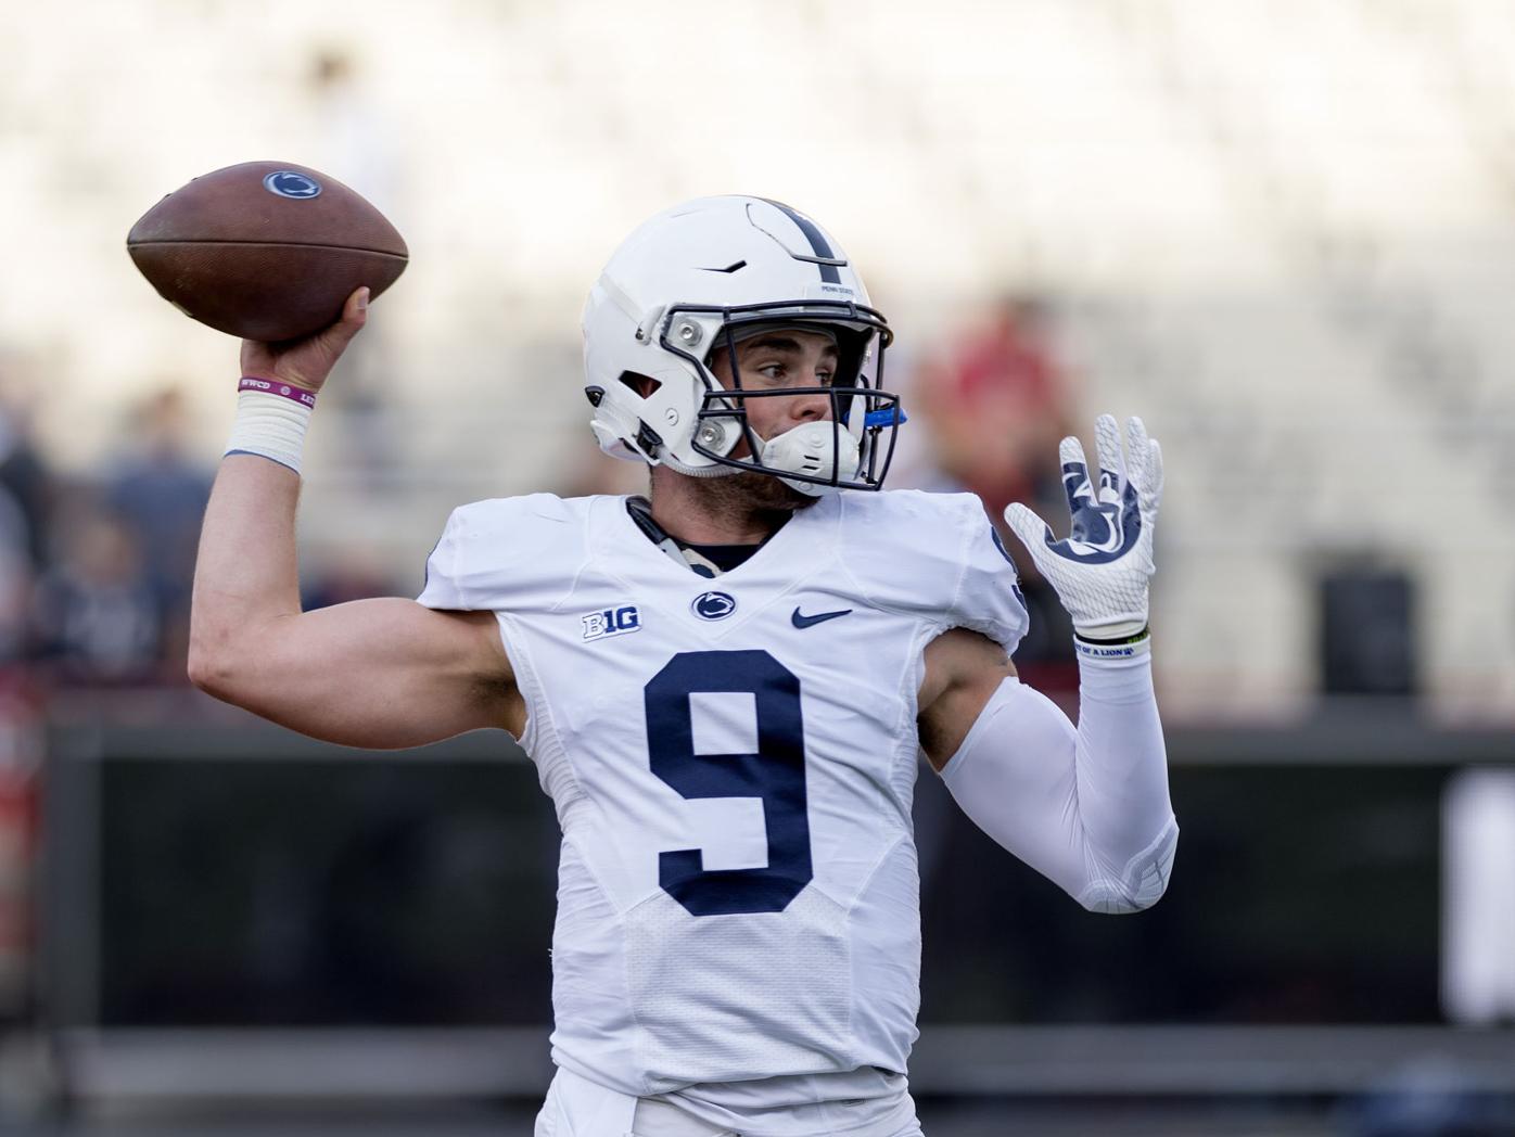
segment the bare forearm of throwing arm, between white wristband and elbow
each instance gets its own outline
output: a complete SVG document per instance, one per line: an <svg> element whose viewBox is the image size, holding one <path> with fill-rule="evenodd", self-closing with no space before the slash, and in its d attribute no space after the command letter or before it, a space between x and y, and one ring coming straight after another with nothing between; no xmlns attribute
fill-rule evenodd
<svg viewBox="0 0 1515 1137"><path fill-rule="evenodd" d="M298 474L277 462L255 454L227 454L221 460L195 560L192 675L224 669L239 643L282 616L298 615Z"/></svg>

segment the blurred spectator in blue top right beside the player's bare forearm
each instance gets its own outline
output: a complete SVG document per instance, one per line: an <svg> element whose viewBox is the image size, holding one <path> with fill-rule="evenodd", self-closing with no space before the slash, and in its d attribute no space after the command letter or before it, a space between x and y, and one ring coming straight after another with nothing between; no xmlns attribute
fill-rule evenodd
<svg viewBox="0 0 1515 1137"><path fill-rule="evenodd" d="M189 457L183 394L165 388L133 412L132 450L106 486L106 501L135 537L159 615L156 642L165 660L183 660L189 628L200 519L211 497L211 471ZM165 668L180 678L183 668Z"/></svg>

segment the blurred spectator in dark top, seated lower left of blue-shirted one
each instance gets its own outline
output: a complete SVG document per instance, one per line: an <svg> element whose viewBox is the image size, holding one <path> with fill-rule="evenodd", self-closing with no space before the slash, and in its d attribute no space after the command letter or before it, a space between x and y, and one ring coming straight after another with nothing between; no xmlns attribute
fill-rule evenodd
<svg viewBox="0 0 1515 1137"><path fill-rule="evenodd" d="M158 680L162 610L136 533L88 500L64 521L36 590L44 660L64 683Z"/></svg>

